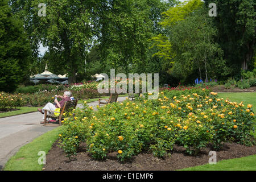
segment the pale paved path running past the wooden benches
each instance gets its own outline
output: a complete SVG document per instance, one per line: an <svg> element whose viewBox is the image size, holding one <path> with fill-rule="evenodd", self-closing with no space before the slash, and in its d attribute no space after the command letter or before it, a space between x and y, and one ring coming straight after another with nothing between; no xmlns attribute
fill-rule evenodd
<svg viewBox="0 0 256 182"><path fill-rule="evenodd" d="M122 102L126 97L119 97ZM98 101L88 105L96 108ZM78 104L77 107L82 107ZM6 118L0 118L0 170L20 147L32 142L36 137L56 127L42 126L43 114L39 112L20 114Z"/></svg>

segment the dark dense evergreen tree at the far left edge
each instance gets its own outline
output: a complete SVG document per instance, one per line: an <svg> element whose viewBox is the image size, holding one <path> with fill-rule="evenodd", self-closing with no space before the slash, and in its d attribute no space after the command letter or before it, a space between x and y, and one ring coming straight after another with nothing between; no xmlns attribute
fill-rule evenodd
<svg viewBox="0 0 256 182"><path fill-rule="evenodd" d="M0 90L12 92L28 77L30 44L23 24L11 13L8 1L0 1Z"/></svg>

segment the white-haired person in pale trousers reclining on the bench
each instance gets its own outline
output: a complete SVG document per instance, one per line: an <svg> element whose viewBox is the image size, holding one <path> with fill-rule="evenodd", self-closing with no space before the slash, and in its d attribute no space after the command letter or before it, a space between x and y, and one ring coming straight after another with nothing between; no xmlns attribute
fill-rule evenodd
<svg viewBox="0 0 256 182"><path fill-rule="evenodd" d="M71 96L72 96L72 93L69 92L69 91L65 91L64 94L63 94L63 96L57 96L57 95L55 95L55 100L54 100L55 104L52 104L51 102L48 102L48 103L46 104L46 106L43 107L43 109L38 108L38 111L39 111L40 113L44 114L44 110L45 110L45 109L46 109L46 110L55 110L55 109L57 109L57 108L61 108L61 107L64 106L64 104L65 104L66 101L71 101L71 98L70 98ZM61 101L58 101L57 98L60 98ZM44 117L43 117L43 118L44 118ZM43 123L43 122L40 122L40 123Z"/></svg>

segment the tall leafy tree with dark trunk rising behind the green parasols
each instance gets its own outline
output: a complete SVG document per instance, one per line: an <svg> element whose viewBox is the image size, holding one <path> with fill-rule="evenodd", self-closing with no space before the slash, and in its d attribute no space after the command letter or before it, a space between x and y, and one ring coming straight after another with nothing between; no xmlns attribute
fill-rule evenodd
<svg viewBox="0 0 256 182"><path fill-rule="evenodd" d="M46 4L46 16L39 16L40 3ZM93 21L90 13L94 1L15 1L11 4L21 18L27 32L48 47L49 67L68 72L69 82L76 82L76 74L84 71L86 53L92 44ZM53 66L51 66L53 65ZM63 73L64 74L64 73Z"/></svg>

